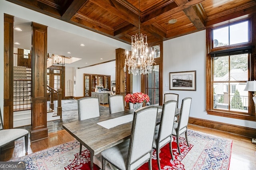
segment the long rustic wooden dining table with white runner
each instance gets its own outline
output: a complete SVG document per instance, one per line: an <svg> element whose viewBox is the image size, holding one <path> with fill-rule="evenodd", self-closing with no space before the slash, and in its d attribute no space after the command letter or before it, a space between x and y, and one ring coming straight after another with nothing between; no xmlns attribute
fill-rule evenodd
<svg viewBox="0 0 256 170"><path fill-rule="evenodd" d="M106 129L97 123L132 113L134 113L134 109L67 123L63 124L62 127L90 151L90 168L93 170L94 155L129 139L132 129L132 121L110 129ZM160 122L161 113L158 112L157 123ZM176 109L176 115L179 113L180 109Z"/></svg>

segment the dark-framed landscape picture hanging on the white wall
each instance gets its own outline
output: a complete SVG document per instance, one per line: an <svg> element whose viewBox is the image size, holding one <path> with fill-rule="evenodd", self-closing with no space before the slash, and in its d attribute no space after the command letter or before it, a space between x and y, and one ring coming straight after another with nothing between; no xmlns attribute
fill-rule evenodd
<svg viewBox="0 0 256 170"><path fill-rule="evenodd" d="M169 73L170 90L196 91L196 70Z"/></svg>

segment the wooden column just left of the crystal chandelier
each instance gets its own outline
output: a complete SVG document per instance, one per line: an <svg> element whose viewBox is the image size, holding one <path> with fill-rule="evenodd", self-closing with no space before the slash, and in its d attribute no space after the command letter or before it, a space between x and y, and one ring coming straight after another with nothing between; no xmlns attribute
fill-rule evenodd
<svg viewBox="0 0 256 170"><path fill-rule="evenodd" d="M125 95L125 49L116 49L116 94Z"/></svg>

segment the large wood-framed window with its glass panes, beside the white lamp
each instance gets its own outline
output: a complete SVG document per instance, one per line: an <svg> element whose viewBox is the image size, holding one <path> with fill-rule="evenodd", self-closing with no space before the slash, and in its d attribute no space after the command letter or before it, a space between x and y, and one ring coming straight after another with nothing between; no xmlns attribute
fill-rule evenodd
<svg viewBox="0 0 256 170"><path fill-rule="evenodd" d="M208 114L255 121L252 92L244 91L246 81L255 79L252 20L206 30Z"/></svg>

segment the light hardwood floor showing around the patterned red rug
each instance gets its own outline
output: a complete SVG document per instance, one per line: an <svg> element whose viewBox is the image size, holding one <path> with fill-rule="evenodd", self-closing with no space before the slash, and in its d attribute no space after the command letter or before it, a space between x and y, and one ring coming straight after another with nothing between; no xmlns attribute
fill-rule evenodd
<svg viewBox="0 0 256 170"><path fill-rule="evenodd" d="M252 139L194 125L188 125L188 128L233 140L229 170L256 170L256 145L252 143ZM65 130L49 133L47 139L33 143L29 141L28 154L72 140L74 140L74 137ZM15 148L2 150L0 161L7 161L25 155L24 139L16 141L15 145Z"/></svg>

